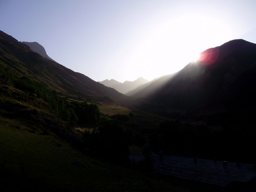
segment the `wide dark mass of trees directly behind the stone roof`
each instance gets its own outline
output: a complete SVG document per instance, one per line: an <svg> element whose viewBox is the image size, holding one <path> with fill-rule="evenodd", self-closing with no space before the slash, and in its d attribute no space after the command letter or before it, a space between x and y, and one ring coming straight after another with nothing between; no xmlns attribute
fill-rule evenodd
<svg viewBox="0 0 256 192"><path fill-rule="evenodd" d="M231 122L230 122L231 123ZM166 121L149 138L150 148L165 155L255 163L255 133L241 126L211 130L204 125Z"/></svg>

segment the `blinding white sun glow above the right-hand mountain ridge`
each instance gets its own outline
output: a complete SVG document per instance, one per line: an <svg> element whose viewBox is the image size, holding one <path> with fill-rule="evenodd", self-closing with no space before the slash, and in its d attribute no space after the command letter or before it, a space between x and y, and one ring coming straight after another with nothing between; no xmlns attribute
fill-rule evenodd
<svg viewBox="0 0 256 192"><path fill-rule="evenodd" d="M220 31L220 28L223 30ZM227 24L216 18L197 15L175 17L158 23L154 30L145 34L137 47L129 50L128 45L122 50L122 55L129 52L124 62L129 68L130 64L136 66L147 79L178 71L189 62L197 61L200 52L209 45L217 46L233 38L233 31ZM120 60L113 60L113 63L118 62ZM129 68L127 73L131 73Z"/></svg>

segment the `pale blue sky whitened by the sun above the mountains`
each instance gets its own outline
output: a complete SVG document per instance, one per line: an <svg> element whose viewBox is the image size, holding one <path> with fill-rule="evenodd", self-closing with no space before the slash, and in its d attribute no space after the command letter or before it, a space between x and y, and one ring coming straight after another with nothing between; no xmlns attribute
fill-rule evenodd
<svg viewBox="0 0 256 192"><path fill-rule="evenodd" d="M95 81L152 80L233 39L256 43L256 1L0 0L0 30Z"/></svg>

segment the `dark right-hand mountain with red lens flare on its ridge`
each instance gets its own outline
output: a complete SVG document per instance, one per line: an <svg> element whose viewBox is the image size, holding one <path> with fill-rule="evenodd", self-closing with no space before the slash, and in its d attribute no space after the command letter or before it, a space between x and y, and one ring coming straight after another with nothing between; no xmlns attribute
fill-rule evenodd
<svg viewBox="0 0 256 192"><path fill-rule="evenodd" d="M197 62L189 63L176 74L163 76L129 95L143 98L144 108L163 113L168 113L168 108L253 110L256 44L237 39L200 55Z"/></svg>

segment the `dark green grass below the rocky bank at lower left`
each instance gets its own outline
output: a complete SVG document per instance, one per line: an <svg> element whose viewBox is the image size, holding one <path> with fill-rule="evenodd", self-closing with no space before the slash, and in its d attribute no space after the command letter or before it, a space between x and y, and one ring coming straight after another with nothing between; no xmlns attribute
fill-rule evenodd
<svg viewBox="0 0 256 192"><path fill-rule="evenodd" d="M1 191L191 191L83 155L54 134L0 116Z"/></svg>

